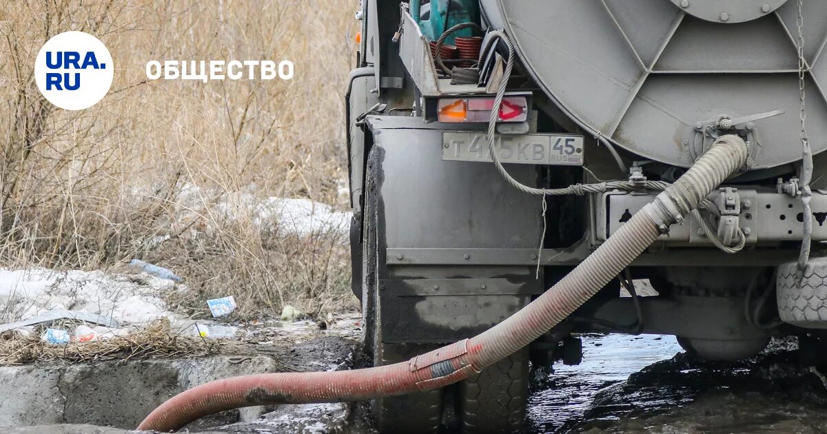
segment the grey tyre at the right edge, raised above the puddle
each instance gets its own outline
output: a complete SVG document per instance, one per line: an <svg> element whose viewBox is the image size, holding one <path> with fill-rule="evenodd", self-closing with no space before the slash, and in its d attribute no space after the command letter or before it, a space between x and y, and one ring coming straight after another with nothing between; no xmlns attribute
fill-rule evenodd
<svg viewBox="0 0 827 434"><path fill-rule="evenodd" d="M827 258L811 259L796 282L796 263L778 266L776 285L778 317L805 328L827 328Z"/></svg>

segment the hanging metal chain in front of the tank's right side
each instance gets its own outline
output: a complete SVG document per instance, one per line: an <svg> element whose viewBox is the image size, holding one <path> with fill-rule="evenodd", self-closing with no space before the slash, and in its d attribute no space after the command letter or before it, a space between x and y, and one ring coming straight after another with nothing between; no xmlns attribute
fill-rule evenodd
<svg viewBox="0 0 827 434"><path fill-rule="evenodd" d="M798 48L798 98L799 98L799 118L801 119L801 203L804 205L804 234L801 237L801 253L798 255L798 273L796 278L801 279L804 274L807 262L810 260L810 239L813 232L813 213L810 210L810 200L812 199L812 191L810 190L810 179L813 176L813 154L810 150L810 141L807 138L806 119L807 112L805 110L805 74L807 71L807 64L804 58L804 14L801 10L804 8L804 0L797 0L798 16L796 17L796 26L798 27L798 38L796 39L796 47Z"/></svg>

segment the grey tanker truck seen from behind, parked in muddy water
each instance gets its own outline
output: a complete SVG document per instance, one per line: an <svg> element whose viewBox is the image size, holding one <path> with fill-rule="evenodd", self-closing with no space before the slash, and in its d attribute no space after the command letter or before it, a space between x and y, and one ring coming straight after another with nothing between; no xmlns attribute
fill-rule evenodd
<svg viewBox="0 0 827 434"><path fill-rule="evenodd" d="M503 322L713 143L748 149L530 345L458 384L375 399L381 432L519 431L529 367L579 363L581 333L673 335L708 360L798 336L819 359L827 2L362 0L356 18L352 289L376 366Z"/></svg>

